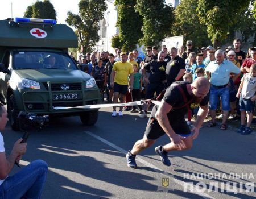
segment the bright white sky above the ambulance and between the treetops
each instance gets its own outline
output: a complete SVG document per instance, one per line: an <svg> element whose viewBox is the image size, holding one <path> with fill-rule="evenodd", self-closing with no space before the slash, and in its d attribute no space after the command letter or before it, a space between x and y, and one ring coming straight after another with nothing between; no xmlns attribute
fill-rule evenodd
<svg viewBox="0 0 256 199"><path fill-rule="evenodd" d="M68 11L78 13L78 3L80 0L50 0L57 13L57 23L66 24ZM23 17L27 6L35 3L36 0L0 0L0 20L11 18L11 4L13 5L13 18ZM167 0L167 3L174 2Z"/></svg>

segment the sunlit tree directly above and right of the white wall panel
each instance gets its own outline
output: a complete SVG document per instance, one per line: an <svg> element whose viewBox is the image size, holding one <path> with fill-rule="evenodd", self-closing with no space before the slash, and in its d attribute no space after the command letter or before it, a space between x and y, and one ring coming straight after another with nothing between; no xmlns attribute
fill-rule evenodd
<svg viewBox="0 0 256 199"><path fill-rule="evenodd" d="M174 11L175 22L172 26L171 36L184 36L184 41L192 40L194 47L203 47L210 44L207 35L207 26L200 24L196 15L198 0L182 0Z"/></svg>

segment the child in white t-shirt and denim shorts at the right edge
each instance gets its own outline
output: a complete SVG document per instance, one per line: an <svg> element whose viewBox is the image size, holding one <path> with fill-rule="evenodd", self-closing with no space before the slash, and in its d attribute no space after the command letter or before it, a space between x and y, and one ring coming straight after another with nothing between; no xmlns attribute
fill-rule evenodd
<svg viewBox="0 0 256 199"><path fill-rule="evenodd" d="M251 121L253 120L253 102L256 99L256 64L251 65L250 73L245 73L238 88L237 98L241 111L241 127L238 133L247 135L251 133ZM245 116L247 114L247 125L245 126Z"/></svg>

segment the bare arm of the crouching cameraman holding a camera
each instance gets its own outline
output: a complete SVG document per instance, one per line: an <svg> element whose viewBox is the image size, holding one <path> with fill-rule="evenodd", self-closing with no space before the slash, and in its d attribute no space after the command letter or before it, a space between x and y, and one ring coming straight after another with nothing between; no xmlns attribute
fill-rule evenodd
<svg viewBox="0 0 256 199"><path fill-rule="evenodd" d="M22 138L15 142L9 157L6 158L5 152L0 152L0 179L5 179L13 169L18 156L25 154L27 143L20 143L21 141Z"/></svg>

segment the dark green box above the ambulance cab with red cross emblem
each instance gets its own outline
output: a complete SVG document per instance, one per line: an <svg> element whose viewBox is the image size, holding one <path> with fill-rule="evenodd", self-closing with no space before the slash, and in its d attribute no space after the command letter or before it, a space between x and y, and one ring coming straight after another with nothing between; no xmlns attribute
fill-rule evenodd
<svg viewBox="0 0 256 199"><path fill-rule="evenodd" d="M49 24L40 23L13 22L13 25L10 26L8 20L0 20L0 46L43 48L77 47L77 36L75 32L65 24L53 24L50 26ZM32 34L31 32L34 33ZM41 32L39 38L33 36L37 34L36 32Z"/></svg>

